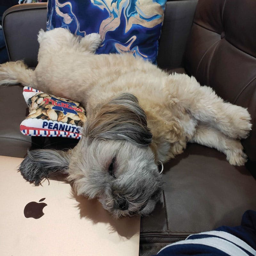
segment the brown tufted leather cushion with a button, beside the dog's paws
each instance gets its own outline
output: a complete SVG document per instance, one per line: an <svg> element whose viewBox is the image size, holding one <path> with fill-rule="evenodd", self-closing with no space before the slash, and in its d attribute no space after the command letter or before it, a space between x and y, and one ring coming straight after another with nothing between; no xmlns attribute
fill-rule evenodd
<svg viewBox="0 0 256 256"><path fill-rule="evenodd" d="M256 1L199 0L185 68L224 100L248 108L253 128L243 145L256 161Z"/></svg>

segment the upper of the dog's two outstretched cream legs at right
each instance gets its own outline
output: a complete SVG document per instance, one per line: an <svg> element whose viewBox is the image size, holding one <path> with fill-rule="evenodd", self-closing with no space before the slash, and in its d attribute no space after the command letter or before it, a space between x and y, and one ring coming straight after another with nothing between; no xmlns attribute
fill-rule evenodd
<svg viewBox="0 0 256 256"><path fill-rule="evenodd" d="M176 94L180 104L196 120L215 127L230 138L248 136L252 124L247 109L224 102L212 88L200 86L194 77L174 74L169 78L171 93Z"/></svg>

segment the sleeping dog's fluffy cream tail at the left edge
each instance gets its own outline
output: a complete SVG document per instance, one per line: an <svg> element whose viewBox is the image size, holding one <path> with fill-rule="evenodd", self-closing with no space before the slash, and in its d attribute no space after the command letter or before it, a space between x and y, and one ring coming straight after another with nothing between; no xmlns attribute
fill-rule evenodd
<svg viewBox="0 0 256 256"><path fill-rule="evenodd" d="M22 84L33 86L34 71L23 61L10 61L0 65L0 85Z"/></svg>

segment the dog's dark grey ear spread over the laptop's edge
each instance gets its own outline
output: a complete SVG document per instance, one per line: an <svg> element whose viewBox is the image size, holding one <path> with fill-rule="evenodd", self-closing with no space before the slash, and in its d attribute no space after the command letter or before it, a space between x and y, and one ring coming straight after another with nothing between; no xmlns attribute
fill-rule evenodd
<svg viewBox="0 0 256 256"><path fill-rule="evenodd" d="M52 172L66 172L69 163L70 151L36 149L28 151L28 155L19 166L19 171L24 179L38 185Z"/></svg>

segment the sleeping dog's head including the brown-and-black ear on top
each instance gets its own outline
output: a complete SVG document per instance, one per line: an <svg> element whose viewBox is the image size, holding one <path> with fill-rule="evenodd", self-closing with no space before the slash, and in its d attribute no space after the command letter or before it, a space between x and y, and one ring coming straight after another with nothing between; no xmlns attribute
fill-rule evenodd
<svg viewBox="0 0 256 256"><path fill-rule="evenodd" d="M151 140L137 98L123 93L88 116L81 140L67 153L68 179L78 195L97 197L114 217L147 215L162 188Z"/></svg>

